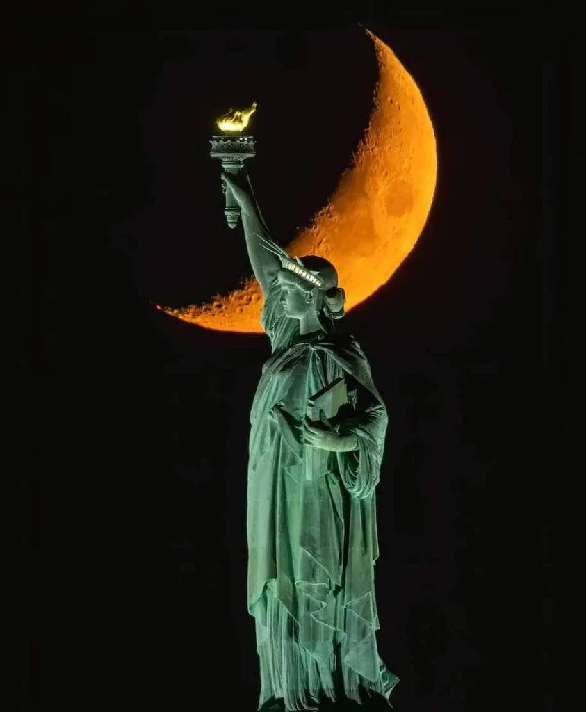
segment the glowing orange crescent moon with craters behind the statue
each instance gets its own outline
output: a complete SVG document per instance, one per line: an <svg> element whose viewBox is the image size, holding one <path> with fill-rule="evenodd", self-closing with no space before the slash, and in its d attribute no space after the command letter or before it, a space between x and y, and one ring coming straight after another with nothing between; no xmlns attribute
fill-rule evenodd
<svg viewBox="0 0 586 712"><path fill-rule="evenodd" d="M437 177L434 127L422 93L392 50L370 30L379 78L369 124L333 197L286 247L292 257L330 260L346 312L382 287L422 233ZM263 333L255 278L211 303L157 308L216 331Z"/></svg>

